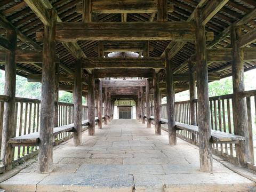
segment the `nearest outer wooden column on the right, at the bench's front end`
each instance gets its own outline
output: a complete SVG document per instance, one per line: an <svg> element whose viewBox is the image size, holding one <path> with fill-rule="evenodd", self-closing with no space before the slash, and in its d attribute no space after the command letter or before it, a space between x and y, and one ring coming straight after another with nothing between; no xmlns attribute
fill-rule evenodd
<svg viewBox="0 0 256 192"><path fill-rule="evenodd" d="M239 165L242 167L247 166L249 158L249 132L246 116L245 98L240 98L239 93L244 91L244 53L243 49L239 49L238 42L242 36L240 27L232 27L231 29L231 44L233 46L233 114L234 114L234 133L245 137L245 141L236 144L236 154L238 157Z"/></svg>

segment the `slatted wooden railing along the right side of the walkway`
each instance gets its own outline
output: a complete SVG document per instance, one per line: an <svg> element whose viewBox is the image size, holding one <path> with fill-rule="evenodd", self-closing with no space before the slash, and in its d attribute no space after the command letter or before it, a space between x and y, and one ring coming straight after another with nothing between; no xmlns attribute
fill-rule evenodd
<svg viewBox="0 0 256 192"><path fill-rule="evenodd" d="M256 169L254 166L254 145L253 145L253 131L255 129L256 119L256 90L245 91L241 93L242 98L246 98L247 105L247 123L249 127L249 152L250 152L250 164L252 169ZM234 134L234 118L232 100L233 94L221 95L217 97L211 97L210 100L210 117L211 117L211 129L226 133ZM196 103L196 125L198 125L198 110L197 100L193 100ZM166 118L167 109L166 104L161 105L162 113L161 118ZM185 124L191 124L190 117L190 101L175 102L175 121ZM166 127L163 126L165 129ZM186 130L178 130L178 137L192 141L192 133ZM254 133L255 135L255 133ZM198 145L198 134L196 135L196 143ZM255 138L254 138L255 139ZM255 146L256 147L256 146ZM215 143L212 144L212 148L215 154L225 156L235 162L237 162L236 148L234 143Z"/></svg>

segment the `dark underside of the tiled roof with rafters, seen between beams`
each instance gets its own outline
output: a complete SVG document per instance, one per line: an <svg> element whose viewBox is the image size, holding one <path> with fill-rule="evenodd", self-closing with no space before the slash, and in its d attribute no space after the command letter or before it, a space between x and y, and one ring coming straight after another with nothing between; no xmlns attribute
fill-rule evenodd
<svg viewBox="0 0 256 192"><path fill-rule="evenodd" d="M27 4L27 3L28 4ZM31 5L29 4L30 0L2 0L0 2L0 41L3 42L3 39L6 35L6 29L17 29L18 34L18 51L19 54L23 53L22 50L28 52L28 50L36 50L35 52L42 52L43 42L42 33L44 30L44 21L32 11ZM33 1L32 1L33 2ZM35 2L42 3L44 9L55 9L58 13L57 21L60 22L82 22L82 1L81 0L36 0ZM105 7L105 10L110 11L101 11L99 3L100 1L92 1L94 12L92 14L92 21L95 22L157 22L158 14L157 6L151 6L151 4L156 3L156 0L152 1L130 1L126 0L126 4L123 13L115 11L116 9L121 9L120 5L114 5L117 1L112 1L109 3L110 7ZM106 1L110 2L110 1ZM127 3L128 2L128 3ZM131 5L131 2L141 3L143 9L139 9ZM144 3L143 3L144 2ZM30 8L31 7L31 8ZM127 8L128 7L128 8ZM149 7L149 8L148 8ZM207 49L225 49L231 47L230 45L230 26L239 25L242 26L243 34L252 32L255 35L255 26L256 26L256 1L255 0L170 0L168 1L168 21L182 21L190 22L194 20L194 10L196 7L202 7L206 11L210 11L209 19L205 19L205 26L207 32L212 32L214 34L214 39L207 42ZM36 7L35 7L36 9ZM127 11L130 9L129 11ZM145 11L147 10L147 11ZM118 12L118 13L116 13ZM160 18L160 17L159 17ZM43 22L42 22L43 21ZM114 23L113 23L114 24ZM147 24L146 24L147 25ZM145 25L145 26L146 26ZM153 23L155 26L155 24ZM134 25L135 26L135 25ZM143 26L142 26L143 27ZM183 26L187 27L188 26ZM135 29L134 29L135 30ZM138 31L137 31L138 32ZM37 34L36 34L37 33ZM146 30L145 30L146 33ZM70 32L71 35L72 31ZM210 34L210 33L209 33ZM256 37L255 37L256 38ZM41 40L40 40L41 39ZM74 65L77 58L83 57L86 61L93 61L97 58L98 55L98 41L93 38L93 41L88 41L89 39L78 39L77 42L67 43L67 42L58 42L56 46L57 60L60 61L60 74L74 74ZM112 39L111 39L112 40ZM138 39L137 39L138 40ZM112 51L134 51L143 55L143 42L137 41L137 44L133 44L133 49L127 48L129 41L126 42L115 42L115 41L104 41L107 56L107 52ZM116 47L118 45L118 49ZM136 45L136 46L135 46ZM250 42L246 47L255 47L256 43ZM129 46L128 46L129 47ZM131 46L130 46L131 47ZM171 59L171 62L174 64L174 73L183 74L188 73L188 59L193 59L191 56L195 53L195 42L193 40L174 42L170 40L159 40L154 39L149 41L149 58L148 60L154 60L163 57L165 50L170 49L168 52L168 57ZM74 51L75 50L75 51ZM1 49L0 46L0 69L4 69L4 52L5 50ZM256 53L255 53L256 54ZM2 56L1 56L2 55ZM38 59L38 58L37 58ZM126 61L127 58L121 60ZM22 59L17 60L17 74L20 76L27 77L30 74L41 74L42 73L42 63L38 62L24 62ZM103 61L103 58L102 58ZM129 59L129 62L130 59ZM215 61L209 62L208 71L209 73L219 73L220 77L230 76L231 71L231 61ZM108 63L108 68L105 70L103 67L97 69L98 78L103 78L105 74L111 74L111 76L116 74L116 77L121 77L122 73L120 70L111 69L111 63ZM145 63L145 68L151 68L151 63ZM161 68L163 63L159 63L158 67ZM160 67L159 67L160 66ZM90 66L91 67L91 66ZM89 68L90 68L89 67ZM129 67L129 63L127 66ZM244 69L250 70L256 67L256 59L246 60L244 62ZM86 66L83 69L83 77L87 81L88 70ZM154 68L154 67L153 67ZM145 74L145 77L148 77L149 71L152 69L123 69L123 74L133 75L134 74ZM131 71L131 72L129 72ZM136 71L138 71L136 73ZM165 70L161 69L159 71L159 81L164 81L165 79ZM179 81L178 83L186 83L187 81ZM62 82L62 84L69 84L67 82ZM176 89L175 92L183 91L183 89Z"/></svg>

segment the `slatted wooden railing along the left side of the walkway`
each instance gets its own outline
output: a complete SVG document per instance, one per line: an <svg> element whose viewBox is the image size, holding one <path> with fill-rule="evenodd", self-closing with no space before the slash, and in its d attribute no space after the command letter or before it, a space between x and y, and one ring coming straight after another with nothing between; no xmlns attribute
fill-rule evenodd
<svg viewBox="0 0 256 192"><path fill-rule="evenodd" d="M4 102L8 101L9 97L0 95L0 149L2 143L2 130L3 130L3 113ZM15 98L15 114L14 126L15 137L34 133L40 130L39 116L40 116L40 100ZM97 110L97 109L95 109ZM58 106L58 126L68 125L74 123L74 104L59 102ZM82 121L87 119L88 106L82 107ZM73 132L63 132L55 137L55 143L62 142L73 135ZM13 164L26 161L38 153L37 146L14 147ZM1 155L1 151L0 151Z"/></svg>

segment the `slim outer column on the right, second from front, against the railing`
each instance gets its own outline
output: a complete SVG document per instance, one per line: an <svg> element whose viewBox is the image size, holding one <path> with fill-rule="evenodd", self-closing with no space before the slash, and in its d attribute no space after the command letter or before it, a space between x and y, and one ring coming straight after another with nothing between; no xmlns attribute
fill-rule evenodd
<svg viewBox="0 0 256 192"><path fill-rule="evenodd" d="M191 125L196 125L196 103L193 102L196 99L196 74L192 72L193 63L188 62L189 68L189 99L190 99L190 117ZM192 133L192 143L196 144L196 135Z"/></svg>

